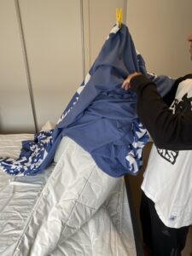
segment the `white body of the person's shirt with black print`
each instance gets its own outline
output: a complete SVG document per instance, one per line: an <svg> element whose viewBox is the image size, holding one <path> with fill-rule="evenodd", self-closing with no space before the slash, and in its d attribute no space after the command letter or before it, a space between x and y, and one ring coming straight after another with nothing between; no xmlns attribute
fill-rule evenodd
<svg viewBox="0 0 192 256"><path fill-rule="evenodd" d="M192 79L186 79L178 85L171 107L173 113L176 108L185 106L183 104L192 106L190 97ZM142 189L154 201L166 226L180 228L192 224L192 150L172 151L153 145Z"/></svg>

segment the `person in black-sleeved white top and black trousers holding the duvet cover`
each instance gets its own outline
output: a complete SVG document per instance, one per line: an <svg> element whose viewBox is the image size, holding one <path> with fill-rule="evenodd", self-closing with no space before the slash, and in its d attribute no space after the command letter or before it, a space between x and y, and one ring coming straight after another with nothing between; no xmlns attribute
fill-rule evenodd
<svg viewBox="0 0 192 256"><path fill-rule="evenodd" d="M192 33L188 41L192 60ZM192 74L163 98L141 73L122 88L136 92L137 115L154 140L142 183L143 242L152 255L181 255L192 224Z"/></svg>

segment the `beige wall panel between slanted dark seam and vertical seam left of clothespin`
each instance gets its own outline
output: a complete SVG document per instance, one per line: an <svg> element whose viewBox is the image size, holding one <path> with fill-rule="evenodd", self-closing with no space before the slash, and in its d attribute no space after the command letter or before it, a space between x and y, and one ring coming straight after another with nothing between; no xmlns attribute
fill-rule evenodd
<svg viewBox="0 0 192 256"><path fill-rule="evenodd" d="M57 122L83 80L79 0L20 0L38 129Z"/></svg>

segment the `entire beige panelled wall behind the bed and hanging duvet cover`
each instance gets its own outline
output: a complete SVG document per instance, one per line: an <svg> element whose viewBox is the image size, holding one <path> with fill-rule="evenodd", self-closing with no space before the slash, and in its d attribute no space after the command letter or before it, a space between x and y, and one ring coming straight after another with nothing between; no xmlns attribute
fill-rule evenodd
<svg viewBox="0 0 192 256"><path fill-rule="evenodd" d="M1 133L34 131L34 118L38 129L59 119L115 23L116 8L124 9L148 71L190 73L191 0L0 0Z"/></svg>

